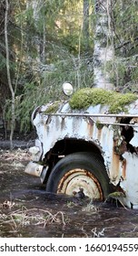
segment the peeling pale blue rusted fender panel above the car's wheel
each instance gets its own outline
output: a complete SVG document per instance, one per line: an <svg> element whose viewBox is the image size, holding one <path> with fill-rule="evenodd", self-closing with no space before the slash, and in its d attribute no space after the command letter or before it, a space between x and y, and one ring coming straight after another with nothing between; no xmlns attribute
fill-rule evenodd
<svg viewBox="0 0 138 256"><path fill-rule="evenodd" d="M36 146L40 149L34 152L33 160L43 162L64 138L92 143L103 155L110 182L123 189L123 203L138 208L138 101L128 106L127 114L109 114L108 107L101 105L76 112L66 102L57 112L48 113L52 105L37 108L32 116L38 135ZM42 176L43 168L38 169ZM28 172L27 167L25 171Z"/></svg>

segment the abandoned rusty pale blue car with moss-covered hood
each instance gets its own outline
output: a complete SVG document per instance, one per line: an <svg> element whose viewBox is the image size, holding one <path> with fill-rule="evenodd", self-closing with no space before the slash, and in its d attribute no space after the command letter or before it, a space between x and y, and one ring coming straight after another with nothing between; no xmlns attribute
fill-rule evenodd
<svg viewBox="0 0 138 256"><path fill-rule="evenodd" d="M46 191L73 195L80 188L94 200L122 191L123 205L138 208L138 97L82 89L69 101L37 107L38 137L25 172L39 176Z"/></svg>

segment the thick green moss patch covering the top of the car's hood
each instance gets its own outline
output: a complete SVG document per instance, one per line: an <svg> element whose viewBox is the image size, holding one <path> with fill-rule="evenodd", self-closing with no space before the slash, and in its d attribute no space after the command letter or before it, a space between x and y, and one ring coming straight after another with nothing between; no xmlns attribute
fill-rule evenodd
<svg viewBox="0 0 138 256"><path fill-rule="evenodd" d="M122 94L116 91L106 91L97 88L84 88L74 92L69 101L72 109L86 109L98 104L109 106L109 112L125 112L125 106L136 101L138 96L133 93Z"/></svg>

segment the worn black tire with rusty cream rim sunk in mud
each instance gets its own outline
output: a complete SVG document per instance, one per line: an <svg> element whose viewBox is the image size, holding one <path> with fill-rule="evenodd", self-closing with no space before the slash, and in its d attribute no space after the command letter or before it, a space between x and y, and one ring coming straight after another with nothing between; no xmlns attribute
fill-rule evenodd
<svg viewBox="0 0 138 256"><path fill-rule="evenodd" d="M66 155L54 165L46 191L72 195L79 187L84 188L86 196L94 199L103 200L110 193L109 177L97 155L86 152Z"/></svg>

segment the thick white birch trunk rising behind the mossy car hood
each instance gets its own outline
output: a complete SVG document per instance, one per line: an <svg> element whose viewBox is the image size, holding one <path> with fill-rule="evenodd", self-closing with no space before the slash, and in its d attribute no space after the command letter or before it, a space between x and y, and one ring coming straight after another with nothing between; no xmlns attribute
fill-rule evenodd
<svg viewBox="0 0 138 256"><path fill-rule="evenodd" d="M113 90L106 63L113 60L113 31L111 0L95 0L94 87Z"/></svg>

